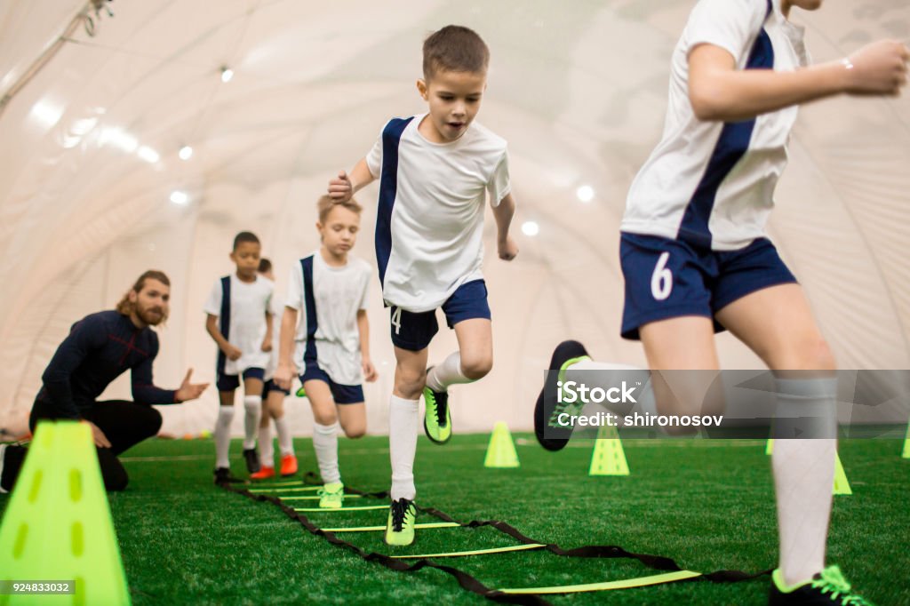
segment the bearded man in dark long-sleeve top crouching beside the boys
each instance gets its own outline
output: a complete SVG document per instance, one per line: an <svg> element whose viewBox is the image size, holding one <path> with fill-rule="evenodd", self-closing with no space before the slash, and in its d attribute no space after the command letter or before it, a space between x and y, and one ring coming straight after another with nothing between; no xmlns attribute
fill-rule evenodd
<svg viewBox="0 0 910 606"><path fill-rule="evenodd" d="M152 362L158 353L157 333L150 327L167 319L170 281L149 270L136 280L116 310L82 318L57 348L42 376L29 427L40 419L86 422L98 451L107 490L126 488L126 470L117 455L157 434L161 414L151 404L196 399L207 383L190 383L192 370L179 389L157 388ZM133 398L99 402L107 386L127 369L132 371ZM0 491L11 490L25 458L21 446L0 446Z"/></svg>

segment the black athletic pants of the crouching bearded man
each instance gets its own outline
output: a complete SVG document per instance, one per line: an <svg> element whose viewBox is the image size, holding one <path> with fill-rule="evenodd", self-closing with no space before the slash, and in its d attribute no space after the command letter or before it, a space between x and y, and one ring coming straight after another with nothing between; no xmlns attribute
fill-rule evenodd
<svg viewBox="0 0 910 606"><path fill-rule="evenodd" d="M89 420L105 432L109 449L98 447L98 464L106 490L124 490L129 478L117 455L136 446L144 439L157 435L161 429L161 413L146 404L136 404L122 399L96 402L90 409L81 410L83 419ZM35 432L41 419L56 419L56 410L42 400L35 400L28 427Z"/></svg>

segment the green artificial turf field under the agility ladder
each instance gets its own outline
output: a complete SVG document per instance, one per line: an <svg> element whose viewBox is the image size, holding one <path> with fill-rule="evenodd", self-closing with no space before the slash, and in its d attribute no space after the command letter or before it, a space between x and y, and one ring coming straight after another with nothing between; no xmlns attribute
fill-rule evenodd
<svg viewBox="0 0 910 606"><path fill-rule="evenodd" d="M777 556L770 457L763 440L625 439L632 475L590 477L592 440L550 453L515 435L520 469L488 470L489 436L456 434L446 446L420 437L417 503L457 520L503 520L562 548L619 545L662 555L683 569L757 572ZM345 482L388 490L388 439L339 439ZM316 470L309 439L296 439L301 470ZM212 484L211 439L152 439L123 457L130 484L109 493L135 604L480 604L450 575L389 571L313 536L281 510ZM910 604L910 460L895 439L843 439L840 456L854 494L836 496L828 561L877 604ZM231 452L243 470L240 444ZM289 493L288 493L289 494ZM307 493L298 493L307 494ZM312 494L312 493L309 493ZM0 495L0 510L8 495ZM376 504L346 500L346 506ZM315 507L317 501L291 501ZM305 513L323 528L384 525L386 510ZM438 521L421 515L420 522ZM397 553L518 544L491 528L418 530ZM389 553L381 532L339 537ZM53 549L48 546L48 549ZM616 581L656 574L635 560L564 558L545 550L437 560L490 588ZM546 596L553 604L763 604L769 577L737 583L696 580Z"/></svg>

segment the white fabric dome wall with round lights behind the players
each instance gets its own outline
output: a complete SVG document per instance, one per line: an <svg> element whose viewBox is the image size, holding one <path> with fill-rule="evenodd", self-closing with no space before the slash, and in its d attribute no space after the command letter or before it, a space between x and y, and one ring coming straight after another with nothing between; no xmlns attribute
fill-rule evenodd
<svg viewBox="0 0 910 606"><path fill-rule="evenodd" d="M667 68L692 0L420 3L116 0L96 35L76 29L0 114L0 427L21 424L56 345L78 318L110 308L147 268L173 282L156 379L214 379L203 300L227 273L231 238L262 238L284 291L290 264L318 245L316 198L369 149L390 116L422 110L420 44L448 23L484 35L492 68L480 121L510 141L519 258L487 263L492 374L454 393L458 430L531 427L541 369L563 338L600 359L643 365L622 341L617 226L625 192L656 143ZM25 73L82 3L0 5L0 92ZM910 37L896 0L825 3L794 18L818 61L883 36ZM225 84L219 68L236 71ZM910 363L910 104L838 98L804 108L770 235L801 279L839 363ZM180 146L194 147L187 162ZM138 152L147 146L159 159ZM596 196L575 197L581 185ZM190 195L185 207L171 191ZM376 187L354 253L375 263ZM537 221L537 237L521 223ZM370 431L386 430L394 359L374 278L367 386ZM733 338L726 368L759 363ZM430 359L455 347L443 329ZM108 389L128 397L126 377ZM238 399L239 401L239 399ZM210 428L217 395L169 407L165 429ZM287 401L298 433L305 403ZM239 428L238 415L237 423Z"/></svg>

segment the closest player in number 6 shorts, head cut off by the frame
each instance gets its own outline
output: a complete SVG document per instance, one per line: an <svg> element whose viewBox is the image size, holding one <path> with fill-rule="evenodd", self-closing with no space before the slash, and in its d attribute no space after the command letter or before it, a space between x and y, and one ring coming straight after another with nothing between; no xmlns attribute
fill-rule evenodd
<svg viewBox="0 0 910 606"><path fill-rule="evenodd" d="M819 5L695 6L673 52L662 141L632 183L622 221L622 336L642 340L649 367L719 369L713 334L728 329L774 371L778 424L795 417L824 426L819 439L774 444L780 564L772 604L866 603L836 566L824 568L836 449L834 356L802 288L764 236L764 221L797 106L843 93L896 95L908 53L881 41L809 66L803 29L788 17L794 6ZM609 367L566 341L550 368ZM701 414L705 386L673 383L673 394L659 373L653 382L661 414ZM545 427L552 400L549 390L541 392L535 429L546 448L560 449L568 436Z"/></svg>

